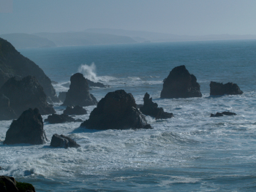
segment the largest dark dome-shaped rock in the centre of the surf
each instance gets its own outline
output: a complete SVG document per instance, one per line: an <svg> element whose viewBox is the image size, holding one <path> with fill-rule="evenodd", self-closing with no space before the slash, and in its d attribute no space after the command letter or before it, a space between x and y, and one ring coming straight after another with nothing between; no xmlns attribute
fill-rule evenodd
<svg viewBox="0 0 256 192"><path fill-rule="evenodd" d="M151 128L145 116L136 109L132 94L124 90L108 93L81 126L99 130Z"/></svg>

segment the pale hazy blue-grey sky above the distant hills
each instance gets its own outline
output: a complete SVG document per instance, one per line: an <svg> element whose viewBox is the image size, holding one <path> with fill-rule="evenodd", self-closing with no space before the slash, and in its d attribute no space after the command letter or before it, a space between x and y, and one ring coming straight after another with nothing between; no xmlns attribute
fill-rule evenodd
<svg viewBox="0 0 256 192"><path fill-rule="evenodd" d="M0 34L121 28L256 34L256 0L0 0Z"/></svg>

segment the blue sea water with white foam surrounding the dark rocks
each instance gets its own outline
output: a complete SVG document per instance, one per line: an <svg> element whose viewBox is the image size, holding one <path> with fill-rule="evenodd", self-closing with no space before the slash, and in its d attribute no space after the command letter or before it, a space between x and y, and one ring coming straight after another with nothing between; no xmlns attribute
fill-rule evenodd
<svg viewBox="0 0 256 192"><path fill-rule="evenodd" d="M45 145L3 145L0 174L37 191L255 191L256 41L169 42L18 50L51 80L56 92L76 72L110 85L90 92L99 101L124 89L138 104L148 92L174 118L146 117L153 129L97 131L80 123L45 123ZM197 77L202 98L160 99L162 80L185 65ZM234 82L239 96L210 96L211 81ZM86 120L96 106L84 107ZM54 104L58 114L64 107ZM236 116L210 118L230 111ZM44 119L47 115L42 116ZM0 121L3 141L11 120ZM79 148L53 148L53 134Z"/></svg>

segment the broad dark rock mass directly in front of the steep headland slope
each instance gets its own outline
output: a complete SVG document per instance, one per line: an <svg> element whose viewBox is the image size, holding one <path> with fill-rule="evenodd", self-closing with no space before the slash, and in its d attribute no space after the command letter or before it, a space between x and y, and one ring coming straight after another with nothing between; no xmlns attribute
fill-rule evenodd
<svg viewBox="0 0 256 192"><path fill-rule="evenodd" d="M0 93L10 99L10 107L17 115L35 107L42 115L55 112L53 106L46 101L45 92L35 77L27 76L22 80L12 77L0 88Z"/></svg>

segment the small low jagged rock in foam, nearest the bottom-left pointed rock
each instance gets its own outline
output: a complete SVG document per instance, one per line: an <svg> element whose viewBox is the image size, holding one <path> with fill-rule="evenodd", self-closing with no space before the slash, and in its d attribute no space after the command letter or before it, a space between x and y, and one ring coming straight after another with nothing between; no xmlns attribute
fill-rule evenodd
<svg viewBox="0 0 256 192"><path fill-rule="evenodd" d="M64 136L63 134L53 134L53 137L50 142L51 147L64 147L67 149L68 147L80 147L73 139Z"/></svg>

